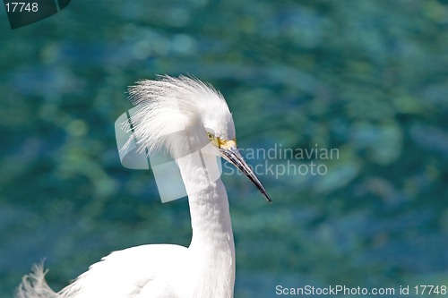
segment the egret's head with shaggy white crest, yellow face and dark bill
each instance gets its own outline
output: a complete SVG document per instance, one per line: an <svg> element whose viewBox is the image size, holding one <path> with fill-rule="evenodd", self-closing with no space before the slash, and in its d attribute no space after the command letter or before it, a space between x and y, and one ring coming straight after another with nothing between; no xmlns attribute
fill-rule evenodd
<svg viewBox="0 0 448 298"><path fill-rule="evenodd" d="M132 129L141 152L166 149L173 158L182 158L200 149L202 154L220 156L237 166L271 201L237 148L235 125L225 99L211 85L167 75L158 81L139 81L129 93L133 104L140 107L132 116Z"/></svg>

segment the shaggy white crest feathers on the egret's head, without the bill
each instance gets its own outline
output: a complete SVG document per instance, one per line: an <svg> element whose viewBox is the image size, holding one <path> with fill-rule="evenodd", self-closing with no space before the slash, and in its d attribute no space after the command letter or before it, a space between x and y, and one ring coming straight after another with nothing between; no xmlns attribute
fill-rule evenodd
<svg viewBox="0 0 448 298"><path fill-rule="evenodd" d="M199 128L201 132L205 132L205 128L216 130L217 137L227 140L235 138L225 99L211 85L195 78L181 75L177 79L164 75L159 76L158 81L138 81L137 85L129 87L129 94L129 99L139 110L131 117L132 127L127 121L122 124L126 132L134 132L123 151L127 151L135 140L140 153L147 150L151 155L166 149L173 158L178 154L185 155L188 141L179 136L184 136L191 128Z"/></svg>

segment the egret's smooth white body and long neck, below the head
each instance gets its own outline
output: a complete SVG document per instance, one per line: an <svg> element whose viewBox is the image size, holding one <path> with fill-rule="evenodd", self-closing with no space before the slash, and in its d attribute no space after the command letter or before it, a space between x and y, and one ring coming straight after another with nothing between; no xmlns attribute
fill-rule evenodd
<svg viewBox="0 0 448 298"><path fill-rule="evenodd" d="M203 155L208 162L216 158ZM190 247L151 244L112 252L63 289L73 298L209 298L233 297L235 245L224 184L209 184L194 157L178 165L187 189L192 217ZM212 285L212 286L211 286Z"/></svg>

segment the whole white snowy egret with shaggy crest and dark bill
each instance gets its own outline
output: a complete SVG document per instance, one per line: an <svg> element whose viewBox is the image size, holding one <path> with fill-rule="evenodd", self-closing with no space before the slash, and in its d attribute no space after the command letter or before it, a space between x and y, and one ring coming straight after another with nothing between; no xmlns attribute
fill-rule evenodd
<svg viewBox="0 0 448 298"><path fill-rule="evenodd" d="M130 88L130 98L140 106L132 118L139 150L151 154L164 148L177 160L190 205L190 246L151 244L114 251L58 293L47 285L43 266L35 265L16 297L233 297L235 244L216 157L237 166L271 199L237 149L226 101L210 85L184 76L140 81Z"/></svg>

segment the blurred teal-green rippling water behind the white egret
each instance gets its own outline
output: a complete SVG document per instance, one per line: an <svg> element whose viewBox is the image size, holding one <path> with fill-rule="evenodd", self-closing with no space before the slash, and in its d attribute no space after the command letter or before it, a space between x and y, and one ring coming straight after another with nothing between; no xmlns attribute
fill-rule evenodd
<svg viewBox="0 0 448 298"><path fill-rule="evenodd" d="M73 0L0 27L1 297L43 258L59 290L110 251L189 244L186 199L116 149L127 86L166 73L220 89L242 149L339 150L269 160L326 175L259 168L271 205L223 175L235 297L448 285L448 1Z"/></svg>

